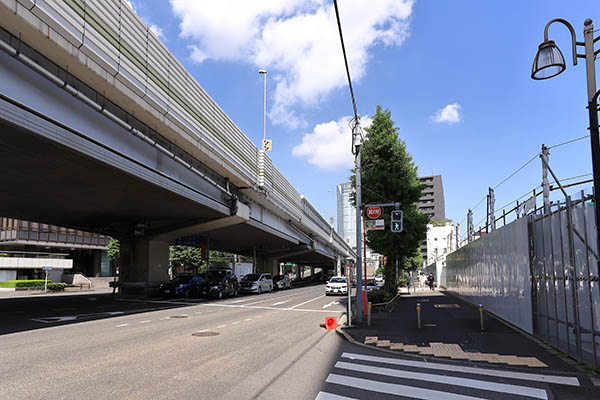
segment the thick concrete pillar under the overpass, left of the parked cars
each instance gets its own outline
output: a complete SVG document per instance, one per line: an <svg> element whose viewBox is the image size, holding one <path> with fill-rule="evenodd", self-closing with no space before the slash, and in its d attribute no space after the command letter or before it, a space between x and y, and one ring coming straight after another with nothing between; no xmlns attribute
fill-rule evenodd
<svg viewBox="0 0 600 400"><path fill-rule="evenodd" d="M144 238L126 238L119 247L121 282L169 280L169 243Z"/></svg>

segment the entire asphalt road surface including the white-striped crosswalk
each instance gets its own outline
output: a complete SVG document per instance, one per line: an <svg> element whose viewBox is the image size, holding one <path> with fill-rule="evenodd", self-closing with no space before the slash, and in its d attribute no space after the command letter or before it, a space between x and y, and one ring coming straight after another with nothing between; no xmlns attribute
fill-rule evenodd
<svg viewBox="0 0 600 400"><path fill-rule="evenodd" d="M320 324L312 286L216 300L0 300L0 399L594 399L577 374L424 360Z"/></svg>

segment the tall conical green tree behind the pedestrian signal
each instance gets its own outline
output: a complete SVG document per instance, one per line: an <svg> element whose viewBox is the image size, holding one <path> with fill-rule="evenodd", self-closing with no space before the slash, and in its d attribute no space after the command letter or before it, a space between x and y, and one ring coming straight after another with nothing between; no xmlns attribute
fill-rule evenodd
<svg viewBox="0 0 600 400"><path fill-rule="evenodd" d="M367 233L368 246L387 256L385 289L393 291L396 257L403 263L414 257L425 239L428 218L416 207L424 185L419 183L417 167L406 150L406 143L398 137L399 130L394 126L390 110L382 111L381 106L377 106L371 126L365 130L367 134L361 149L362 202L400 202L404 213L401 233L389 229L391 207L384 210L386 229ZM351 180L355 184L355 176Z"/></svg>

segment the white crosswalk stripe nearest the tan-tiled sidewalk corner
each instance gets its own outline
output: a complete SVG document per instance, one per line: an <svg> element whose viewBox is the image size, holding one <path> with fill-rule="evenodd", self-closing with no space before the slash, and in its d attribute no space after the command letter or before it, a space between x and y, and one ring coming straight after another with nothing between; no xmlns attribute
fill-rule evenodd
<svg viewBox="0 0 600 400"><path fill-rule="evenodd" d="M411 360L404 360L404 359L399 359L399 358L368 356L365 354L346 353L346 352L342 353L342 357L349 358L351 360L372 361L372 362L379 362L379 363L384 363L384 364L402 365L405 367L435 369L435 370L440 370L440 371L452 371L452 372L462 372L462 373L467 373L467 374L496 376L496 377L501 377L501 378L522 379L522 380L542 382L542 383L554 383L554 384L561 384L561 385L580 386L579 379L576 377L570 377L570 376L531 374L531 373L527 373L527 372L514 372L514 371L504 371L504 370L476 368L476 367L463 367L460 365L440 364L440 363L425 362L425 361L411 361Z"/></svg>

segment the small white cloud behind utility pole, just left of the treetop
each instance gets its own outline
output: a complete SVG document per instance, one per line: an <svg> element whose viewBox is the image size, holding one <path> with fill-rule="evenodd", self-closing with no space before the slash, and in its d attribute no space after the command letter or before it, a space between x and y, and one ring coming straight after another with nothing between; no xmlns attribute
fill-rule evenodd
<svg viewBox="0 0 600 400"><path fill-rule="evenodd" d="M307 157L310 164L325 170L352 168L354 156L351 151L352 132L349 122L350 117L343 117L316 125L312 132L302 137L302 143L294 146L292 154ZM369 118L362 120L363 128L369 125Z"/></svg>

